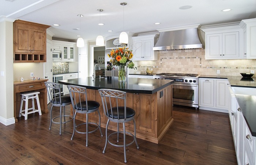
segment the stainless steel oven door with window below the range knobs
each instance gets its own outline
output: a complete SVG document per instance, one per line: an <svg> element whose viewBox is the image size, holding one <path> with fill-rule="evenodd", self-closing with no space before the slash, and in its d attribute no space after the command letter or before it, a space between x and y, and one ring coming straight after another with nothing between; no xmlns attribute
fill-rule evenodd
<svg viewBox="0 0 256 165"><path fill-rule="evenodd" d="M198 85L173 84L173 104L198 108Z"/></svg>

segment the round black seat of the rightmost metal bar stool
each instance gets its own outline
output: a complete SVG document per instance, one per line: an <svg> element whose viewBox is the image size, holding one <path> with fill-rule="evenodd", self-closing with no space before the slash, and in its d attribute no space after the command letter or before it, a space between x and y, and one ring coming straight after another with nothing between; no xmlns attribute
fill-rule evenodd
<svg viewBox="0 0 256 165"><path fill-rule="evenodd" d="M117 114L117 107L113 107L112 108L112 113L111 113L111 109L108 110L108 114L109 117L113 117L114 119L118 119L118 115L119 115L119 119L124 119L124 107L118 107L118 114ZM130 118L133 117L135 115L135 110L126 107L126 118Z"/></svg>

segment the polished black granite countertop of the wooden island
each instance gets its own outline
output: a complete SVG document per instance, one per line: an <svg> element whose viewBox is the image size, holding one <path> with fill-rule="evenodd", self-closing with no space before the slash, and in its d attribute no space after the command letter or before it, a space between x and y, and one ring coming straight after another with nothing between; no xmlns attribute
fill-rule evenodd
<svg viewBox="0 0 256 165"><path fill-rule="evenodd" d="M154 94L174 83L174 80L128 78L127 82L119 82L118 77L109 76L101 79L86 77L61 80L59 83L64 85L77 85L94 90L106 88L121 90L127 93Z"/></svg>

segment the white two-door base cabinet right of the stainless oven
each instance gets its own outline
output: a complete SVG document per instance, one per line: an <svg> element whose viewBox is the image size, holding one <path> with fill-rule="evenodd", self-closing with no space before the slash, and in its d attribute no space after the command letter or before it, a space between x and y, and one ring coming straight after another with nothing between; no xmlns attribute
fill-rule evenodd
<svg viewBox="0 0 256 165"><path fill-rule="evenodd" d="M228 80L200 78L199 83L199 108L227 112Z"/></svg>

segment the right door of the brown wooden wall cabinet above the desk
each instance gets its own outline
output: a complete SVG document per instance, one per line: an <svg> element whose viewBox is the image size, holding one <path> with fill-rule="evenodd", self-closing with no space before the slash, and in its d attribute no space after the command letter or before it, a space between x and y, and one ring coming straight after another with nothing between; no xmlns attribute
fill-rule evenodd
<svg viewBox="0 0 256 165"><path fill-rule="evenodd" d="M43 30L31 29L31 49L34 53L44 53L45 32Z"/></svg>

